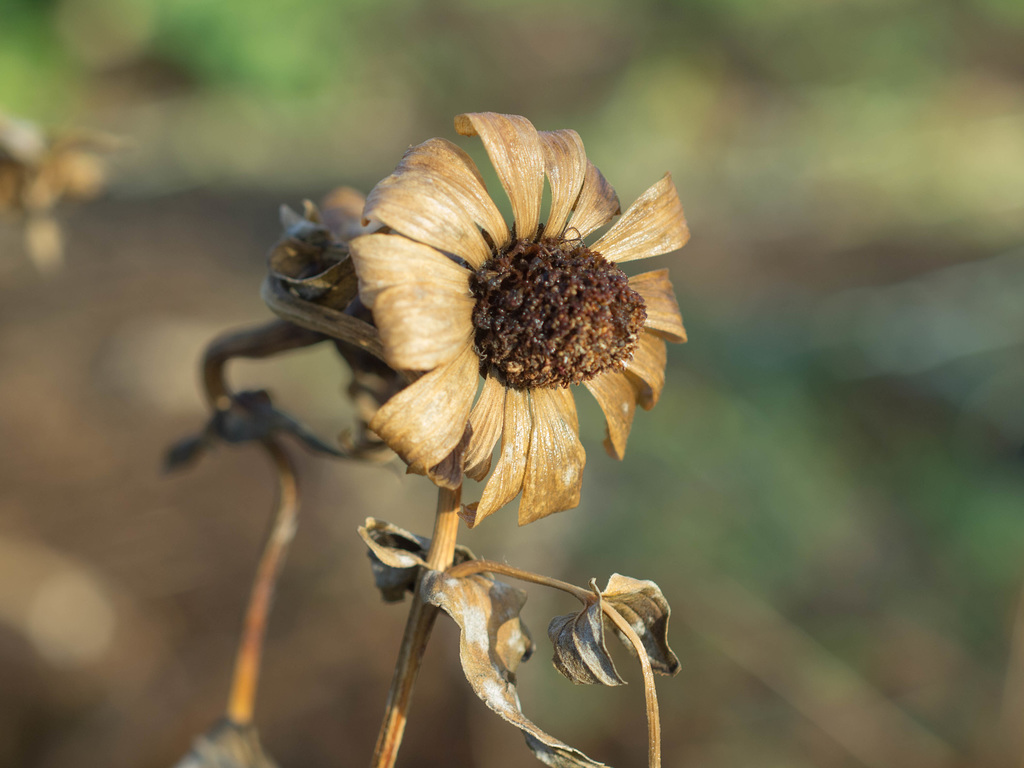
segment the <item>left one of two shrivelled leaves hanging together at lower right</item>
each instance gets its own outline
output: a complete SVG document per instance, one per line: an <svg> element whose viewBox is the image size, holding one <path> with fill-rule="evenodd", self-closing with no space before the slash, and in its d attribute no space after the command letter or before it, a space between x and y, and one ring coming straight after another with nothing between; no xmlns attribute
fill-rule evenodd
<svg viewBox="0 0 1024 768"><path fill-rule="evenodd" d="M555 669L573 683L624 685L604 644L604 613L601 596L579 613L555 616L548 625L555 646Z"/></svg>

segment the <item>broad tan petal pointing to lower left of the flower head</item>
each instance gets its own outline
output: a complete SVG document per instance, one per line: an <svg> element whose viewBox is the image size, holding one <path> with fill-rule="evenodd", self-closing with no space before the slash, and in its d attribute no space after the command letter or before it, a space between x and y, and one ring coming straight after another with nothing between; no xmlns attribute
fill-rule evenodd
<svg viewBox="0 0 1024 768"><path fill-rule="evenodd" d="M381 406L370 428L409 464L433 467L459 444L476 395L472 344Z"/></svg>

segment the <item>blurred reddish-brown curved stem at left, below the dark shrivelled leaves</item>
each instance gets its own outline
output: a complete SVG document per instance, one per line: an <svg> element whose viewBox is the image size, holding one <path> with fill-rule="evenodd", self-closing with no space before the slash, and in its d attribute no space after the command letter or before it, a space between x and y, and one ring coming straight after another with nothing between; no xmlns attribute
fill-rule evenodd
<svg viewBox="0 0 1024 768"><path fill-rule="evenodd" d="M256 577L253 579L252 593L249 597L249 606L246 608L242 638L234 660L234 674L227 698L227 719L236 725L248 725L252 722L267 617L270 614L274 586L285 562L288 545L295 536L296 518L299 513L299 486L291 459L284 447L272 438L267 438L262 444L278 470L280 482L278 511L256 567Z"/></svg>

